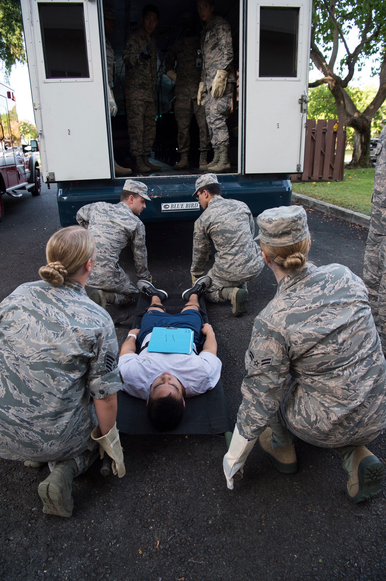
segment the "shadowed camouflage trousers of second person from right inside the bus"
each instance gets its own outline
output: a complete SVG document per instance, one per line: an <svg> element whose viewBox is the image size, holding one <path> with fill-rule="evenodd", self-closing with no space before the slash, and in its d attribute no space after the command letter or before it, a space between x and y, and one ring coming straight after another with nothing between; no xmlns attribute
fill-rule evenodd
<svg viewBox="0 0 386 581"><path fill-rule="evenodd" d="M184 93L176 95L176 103L174 105L174 116L176 117L178 134L177 141L179 144L179 153L189 151L190 147L190 122L193 113L196 116L196 121L200 136L200 151L209 151L210 137L209 130L206 124L205 108L197 103L197 91L185 91Z"/></svg>

